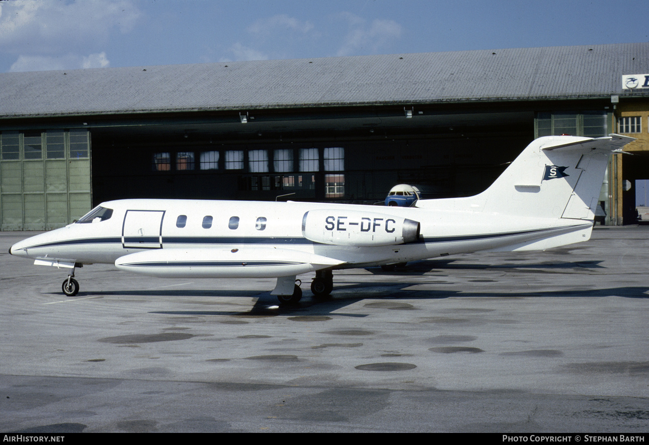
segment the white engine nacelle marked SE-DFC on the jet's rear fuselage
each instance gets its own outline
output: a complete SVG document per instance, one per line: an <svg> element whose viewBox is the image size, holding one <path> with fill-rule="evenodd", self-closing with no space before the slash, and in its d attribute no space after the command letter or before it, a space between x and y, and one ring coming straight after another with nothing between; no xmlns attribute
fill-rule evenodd
<svg viewBox="0 0 649 445"><path fill-rule="evenodd" d="M302 218L304 238L336 246L394 246L419 239L417 221L358 210L309 210Z"/></svg>

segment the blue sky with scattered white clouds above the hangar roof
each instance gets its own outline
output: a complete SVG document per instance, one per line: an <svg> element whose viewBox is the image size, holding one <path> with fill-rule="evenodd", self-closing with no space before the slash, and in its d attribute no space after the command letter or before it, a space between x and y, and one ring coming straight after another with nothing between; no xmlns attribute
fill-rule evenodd
<svg viewBox="0 0 649 445"><path fill-rule="evenodd" d="M0 1L3 72L648 40L609 0Z"/></svg>

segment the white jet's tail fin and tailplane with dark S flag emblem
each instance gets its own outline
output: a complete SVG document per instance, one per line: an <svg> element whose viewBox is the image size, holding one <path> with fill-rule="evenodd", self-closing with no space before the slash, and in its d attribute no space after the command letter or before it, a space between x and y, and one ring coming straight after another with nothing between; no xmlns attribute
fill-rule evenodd
<svg viewBox="0 0 649 445"><path fill-rule="evenodd" d="M448 199L454 202L443 207L540 218L593 220L609 155L633 140L618 134L603 138L538 138L487 190L472 197ZM418 202L417 207L438 205Z"/></svg>

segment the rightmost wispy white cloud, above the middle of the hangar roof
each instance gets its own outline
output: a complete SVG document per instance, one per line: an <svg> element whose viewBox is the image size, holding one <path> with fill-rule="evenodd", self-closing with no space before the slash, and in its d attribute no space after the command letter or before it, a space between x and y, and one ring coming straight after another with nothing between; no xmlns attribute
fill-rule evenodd
<svg viewBox="0 0 649 445"><path fill-rule="evenodd" d="M349 12L341 17L347 21L349 31L338 50L339 56L378 53L401 36L401 25L394 20L374 19L368 25L367 20Z"/></svg>

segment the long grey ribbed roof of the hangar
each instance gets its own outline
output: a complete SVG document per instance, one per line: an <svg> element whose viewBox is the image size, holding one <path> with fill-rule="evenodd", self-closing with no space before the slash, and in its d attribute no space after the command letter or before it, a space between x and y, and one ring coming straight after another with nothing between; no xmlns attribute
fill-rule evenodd
<svg viewBox="0 0 649 445"><path fill-rule="evenodd" d="M0 118L600 98L636 73L649 43L0 73Z"/></svg>

